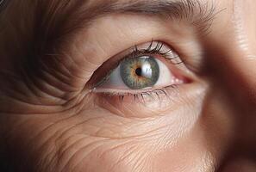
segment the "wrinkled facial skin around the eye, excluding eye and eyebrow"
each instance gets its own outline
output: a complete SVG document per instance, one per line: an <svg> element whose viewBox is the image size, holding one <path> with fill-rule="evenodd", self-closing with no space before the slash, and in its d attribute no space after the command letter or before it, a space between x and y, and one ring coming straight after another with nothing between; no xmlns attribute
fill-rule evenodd
<svg viewBox="0 0 256 172"><path fill-rule="evenodd" d="M215 0L221 12L206 35L182 22L105 15L70 37L59 63L49 58L41 72L30 66L22 74L17 65L29 46L21 42L32 35L15 34L14 11L26 6L17 2L0 32L0 145L15 171L256 171L254 0ZM178 40L201 57L188 60L203 70L171 102L121 106L84 87L107 58L152 38Z"/></svg>

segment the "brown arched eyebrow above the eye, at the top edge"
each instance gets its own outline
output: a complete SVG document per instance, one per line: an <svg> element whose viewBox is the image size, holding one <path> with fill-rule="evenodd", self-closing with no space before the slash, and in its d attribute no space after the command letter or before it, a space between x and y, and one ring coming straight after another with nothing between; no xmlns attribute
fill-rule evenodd
<svg viewBox="0 0 256 172"><path fill-rule="evenodd" d="M196 26L200 32L206 33L217 14L213 3L202 3L200 0L134 0L127 2L104 0L92 4L84 0L77 0L76 3L69 0L69 3L56 3L54 7L54 13L52 11L49 14L57 14L55 15L57 19L54 21L59 24L54 23L54 26L59 26L59 29L55 30L62 35L72 33L73 30L79 28L89 27L91 22L97 18L111 14L150 15L159 16L159 18L165 17L164 19L167 20L183 20ZM58 15L60 16L59 20ZM54 33L55 36L57 33Z"/></svg>

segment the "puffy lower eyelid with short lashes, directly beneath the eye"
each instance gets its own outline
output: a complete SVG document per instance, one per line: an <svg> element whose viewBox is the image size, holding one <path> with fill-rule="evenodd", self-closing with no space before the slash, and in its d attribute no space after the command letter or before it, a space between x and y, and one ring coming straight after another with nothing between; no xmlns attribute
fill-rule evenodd
<svg viewBox="0 0 256 172"><path fill-rule="evenodd" d="M94 93L97 97L97 105L113 114L149 117L174 110L186 100L183 86L171 86L164 89L155 89L144 94L111 95L106 93ZM188 90L188 89L187 89Z"/></svg>

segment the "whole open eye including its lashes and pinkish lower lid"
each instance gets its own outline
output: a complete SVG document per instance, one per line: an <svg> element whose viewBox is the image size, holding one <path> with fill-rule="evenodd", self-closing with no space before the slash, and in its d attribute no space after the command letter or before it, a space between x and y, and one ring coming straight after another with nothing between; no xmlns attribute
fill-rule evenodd
<svg viewBox="0 0 256 172"><path fill-rule="evenodd" d="M182 85L190 83L188 73L171 46L151 41L106 61L91 78L91 93L98 96L99 104L119 108L124 104L163 107L174 100Z"/></svg>

